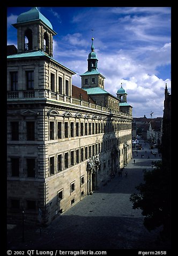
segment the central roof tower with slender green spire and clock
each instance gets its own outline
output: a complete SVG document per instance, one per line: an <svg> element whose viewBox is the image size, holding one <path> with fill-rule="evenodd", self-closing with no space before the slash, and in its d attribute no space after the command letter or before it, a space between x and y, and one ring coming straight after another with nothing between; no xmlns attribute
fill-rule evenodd
<svg viewBox="0 0 178 256"><path fill-rule="evenodd" d="M91 53L88 54L88 70L81 74L81 88L91 88L91 87L100 87L102 89L104 86L105 77L98 72L98 59L97 54L94 52L94 45L91 45Z"/></svg>

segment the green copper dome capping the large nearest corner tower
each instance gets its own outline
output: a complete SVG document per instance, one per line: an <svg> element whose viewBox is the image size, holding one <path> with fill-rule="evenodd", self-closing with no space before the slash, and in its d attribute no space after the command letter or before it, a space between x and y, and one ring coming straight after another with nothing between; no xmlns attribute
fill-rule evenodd
<svg viewBox="0 0 178 256"><path fill-rule="evenodd" d="M36 19L41 19L43 23L45 23L48 27L50 27L50 29L53 30L53 26L49 20L42 15L37 7L33 7L31 10L21 13L17 18L17 23L29 22Z"/></svg>

